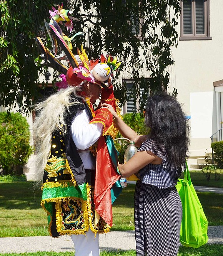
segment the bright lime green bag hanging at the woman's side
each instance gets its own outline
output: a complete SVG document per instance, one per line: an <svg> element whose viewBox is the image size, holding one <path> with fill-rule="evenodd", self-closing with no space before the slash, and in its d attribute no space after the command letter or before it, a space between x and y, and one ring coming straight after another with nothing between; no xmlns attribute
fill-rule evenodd
<svg viewBox="0 0 223 256"><path fill-rule="evenodd" d="M183 207L180 243L183 246L198 248L208 241L208 221L191 182L187 163L184 179L179 179L176 189Z"/></svg>

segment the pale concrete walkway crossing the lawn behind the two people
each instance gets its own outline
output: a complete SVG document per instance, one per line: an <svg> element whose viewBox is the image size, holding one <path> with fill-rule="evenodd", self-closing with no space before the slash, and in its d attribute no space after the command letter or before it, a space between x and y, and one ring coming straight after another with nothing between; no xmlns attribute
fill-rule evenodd
<svg viewBox="0 0 223 256"><path fill-rule="evenodd" d="M197 191L223 194L223 189L195 186ZM208 243L223 244L223 226L208 226ZM134 231L111 231L99 236L101 250L135 250ZM73 242L69 236L53 239L50 236L37 237L2 237L0 238L0 253L25 253L38 251L65 252L74 251Z"/></svg>

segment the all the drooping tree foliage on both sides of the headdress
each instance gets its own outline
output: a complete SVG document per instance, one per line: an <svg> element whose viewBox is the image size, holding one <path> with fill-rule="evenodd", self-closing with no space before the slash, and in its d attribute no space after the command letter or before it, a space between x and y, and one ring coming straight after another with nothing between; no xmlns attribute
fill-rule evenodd
<svg viewBox="0 0 223 256"><path fill-rule="evenodd" d="M18 102L26 109L37 97L37 71L43 67L34 41L43 29L43 20L49 19L48 10L53 3L55 1L49 0L0 1L1 104L13 106ZM128 97L136 101L141 91L142 109L148 89L154 92L168 88L167 67L174 63L171 47L176 46L178 40L178 0L76 0L63 1L63 5L80 20L74 24L74 33L87 31L85 37L75 38L74 54L83 43L89 57L109 52L121 61L114 84L115 96L121 99L121 104ZM120 77L135 81L128 97Z"/></svg>

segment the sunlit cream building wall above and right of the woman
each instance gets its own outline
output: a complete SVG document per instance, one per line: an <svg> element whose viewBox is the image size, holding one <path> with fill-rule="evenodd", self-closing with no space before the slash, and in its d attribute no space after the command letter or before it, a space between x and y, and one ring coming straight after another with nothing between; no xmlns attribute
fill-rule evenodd
<svg viewBox="0 0 223 256"><path fill-rule="evenodd" d="M210 152L210 136L219 127L213 82L223 79L222 11L223 1L210 1L211 40L179 40L178 47L172 49L175 65L171 67L170 91L177 89L177 99L191 117L191 157L204 156L206 149ZM178 22L180 36L180 18Z"/></svg>

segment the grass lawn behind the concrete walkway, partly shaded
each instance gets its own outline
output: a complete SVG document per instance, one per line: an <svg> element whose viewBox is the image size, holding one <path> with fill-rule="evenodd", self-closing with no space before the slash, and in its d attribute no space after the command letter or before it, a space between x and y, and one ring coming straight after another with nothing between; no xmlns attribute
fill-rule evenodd
<svg viewBox="0 0 223 256"><path fill-rule="evenodd" d="M134 189L128 184L113 204L111 231L134 229ZM210 226L223 225L221 194L198 192ZM0 237L48 236L47 215L40 207L41 190L30 182L0 184Z"/></svg>

